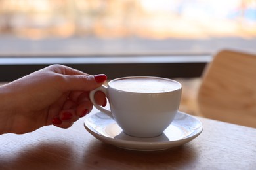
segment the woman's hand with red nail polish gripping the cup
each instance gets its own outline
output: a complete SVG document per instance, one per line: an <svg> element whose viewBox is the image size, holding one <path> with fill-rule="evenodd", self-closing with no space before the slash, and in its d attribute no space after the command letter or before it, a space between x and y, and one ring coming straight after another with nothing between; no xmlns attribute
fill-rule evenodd
<svg viewBox="0 0 256 170"><path fill-rule="evenodd" d="M87 75L64 65L51 65L0 87L0 134L27 133L42 126L68 128L91 112L89 91L106 75ZM103 93L96 102L106 105Z"/></svg>

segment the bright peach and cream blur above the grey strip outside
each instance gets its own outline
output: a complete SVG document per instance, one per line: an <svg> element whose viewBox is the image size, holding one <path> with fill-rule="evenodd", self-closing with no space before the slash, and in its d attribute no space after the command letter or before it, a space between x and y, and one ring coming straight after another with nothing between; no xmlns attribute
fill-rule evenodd
<svg viewBox="0 0 256 170"><path fill-rule="evenodd" d="M0 0L0 39L256 39L256 0Z"/></svg>

